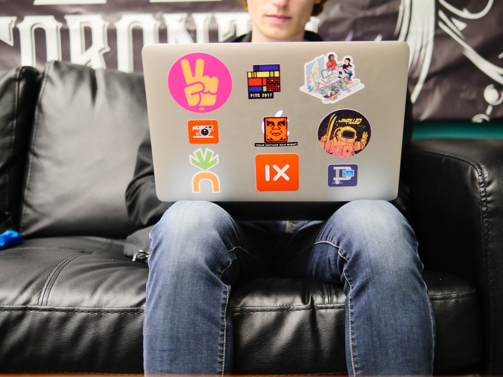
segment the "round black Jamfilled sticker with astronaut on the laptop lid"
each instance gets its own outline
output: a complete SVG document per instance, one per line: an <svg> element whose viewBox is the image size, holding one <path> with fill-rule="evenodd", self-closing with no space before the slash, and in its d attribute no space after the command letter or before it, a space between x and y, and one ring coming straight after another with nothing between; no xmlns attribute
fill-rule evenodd
<svg viewBox="0 0 503 377"><path fill-rule="evenodd" d="M353 156L370 141L369 121L355 110L336 110L321 121L318 140L321 148L331 155Z"/></svg>

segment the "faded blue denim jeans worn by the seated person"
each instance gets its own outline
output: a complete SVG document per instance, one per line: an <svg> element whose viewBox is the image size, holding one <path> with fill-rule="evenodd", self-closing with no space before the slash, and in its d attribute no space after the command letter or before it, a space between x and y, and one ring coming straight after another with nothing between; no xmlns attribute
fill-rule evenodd
<svg viewBox="0 0 503 377"><path fill-rule="evenodd" d="M423 264L388 202L354 201L323 223L239 224L213 203L177 202L150 239L145 374L231 373L231 285L278 275L344 286L350 374L432 374Z"/></svg>

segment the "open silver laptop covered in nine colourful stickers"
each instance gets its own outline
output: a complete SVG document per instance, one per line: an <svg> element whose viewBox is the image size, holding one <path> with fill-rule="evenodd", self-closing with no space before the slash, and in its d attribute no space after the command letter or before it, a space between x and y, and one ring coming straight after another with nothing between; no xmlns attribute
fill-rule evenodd
<svg viewBox="0 0 503 377"><path fill-rule="evenodd" d="M408 56L404 42L145 46L158 198L394 199Z"/></svg>

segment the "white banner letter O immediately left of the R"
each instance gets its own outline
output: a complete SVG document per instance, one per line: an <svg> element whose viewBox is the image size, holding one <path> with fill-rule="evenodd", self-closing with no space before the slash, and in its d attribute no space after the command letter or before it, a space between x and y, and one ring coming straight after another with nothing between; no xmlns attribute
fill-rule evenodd
<svg viewBox="0 0 503 377"><path fill-rule="evenodd" d="M35 29L45 30L47 61L61 60L61 24L54 16L26 16L16 27L21 40L21 65L35 66Z"/></svg>

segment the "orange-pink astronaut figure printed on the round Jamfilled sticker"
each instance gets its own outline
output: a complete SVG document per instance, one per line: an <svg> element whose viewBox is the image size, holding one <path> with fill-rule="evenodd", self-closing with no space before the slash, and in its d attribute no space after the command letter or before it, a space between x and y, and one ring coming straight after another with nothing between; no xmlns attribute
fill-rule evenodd
<svg viewBox="0 0 503 377"><path fill-rule="evenodd" d="M324 150L337 157L353 156L365 148L369 137L369 134L364 132L361 140L356 141L356 130L350 126L337 128L331 139L329 139L330 133L323 135L319 143Z"/></svg>

